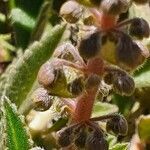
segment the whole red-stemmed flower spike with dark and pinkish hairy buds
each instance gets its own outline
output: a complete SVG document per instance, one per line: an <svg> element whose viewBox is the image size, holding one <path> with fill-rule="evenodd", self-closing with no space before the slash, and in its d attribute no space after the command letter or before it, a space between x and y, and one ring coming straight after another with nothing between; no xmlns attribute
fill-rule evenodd
<svg viewBox="0 0 150 150"><path fill-rule="evenodd" d="M110 85L117 94L132 95L135 85L129 72L136 70L149 57L148 50L139 42L149 37L148 23L142 18L118 21L120 14L126 12L133 2L143 4L148 0L67 1L60 9L68 28L79 26L78 39L74 45L66 42L59 46L53 58L42 65L38 74L42 88L36 92L34 103L36 108L49 109L52 105L50 95L60 94L53 88L56 84L61 87L60 79L66 80L64 68L78 72L72 82L65 84L70 96L60 96L64 105L69 107L71 120L58 133L61 147L75 145L87 150L108 150L106 134L98 121L107 120L107 131L118 135L127 133L127 122L122 115L91 118L91 113L102 82ZM85 28L89 31L81 35Z"/></svg>

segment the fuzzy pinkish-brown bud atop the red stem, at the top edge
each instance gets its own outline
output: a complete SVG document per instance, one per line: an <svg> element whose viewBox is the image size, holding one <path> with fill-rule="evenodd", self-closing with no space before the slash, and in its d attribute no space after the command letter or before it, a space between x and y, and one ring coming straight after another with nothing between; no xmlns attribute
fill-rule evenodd
<svg viewBox="0 0 150 150"><path fill-rule="evenodd" d="M126 12L130 6L130 0L103 0L101 9L106 14L119 15Z"/></svg>

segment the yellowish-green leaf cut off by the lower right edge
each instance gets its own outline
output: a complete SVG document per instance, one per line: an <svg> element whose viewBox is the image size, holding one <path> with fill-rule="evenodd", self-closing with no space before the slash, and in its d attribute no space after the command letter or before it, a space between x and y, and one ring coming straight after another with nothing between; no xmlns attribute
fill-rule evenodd
<svg viewBox="0 0 150 150"><path fill-rule="evenodd" d="M145 142L150 142L150 115L141 116L138 120L138 134Z"/></svg>

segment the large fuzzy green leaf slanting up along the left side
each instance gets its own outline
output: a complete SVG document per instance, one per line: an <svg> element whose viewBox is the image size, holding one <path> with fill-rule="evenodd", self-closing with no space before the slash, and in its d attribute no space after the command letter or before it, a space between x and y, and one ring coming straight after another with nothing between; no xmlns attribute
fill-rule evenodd
<svg viewBox="0 0 150 150"><path fill-rule="evenodd" d="M54 27L45 38L33 43L24 55L10 66L9 71L6 71L5 79L3 77L1 79L3 81L0 85L1 95L12 99L18 106L26 99L40 66L51 57L64 30L65 25Z"/></svg>

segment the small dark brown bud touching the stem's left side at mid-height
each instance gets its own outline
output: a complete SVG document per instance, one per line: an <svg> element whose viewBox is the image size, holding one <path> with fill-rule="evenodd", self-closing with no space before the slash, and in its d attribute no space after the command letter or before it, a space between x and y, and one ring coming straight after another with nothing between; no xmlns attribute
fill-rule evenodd
<svg viewBox="0 0 150 150"><path fill-rule="evenodd" d="M75 96L78 96L79 94L81 94L83 89L84 89L84 83L83 83L82 77L79 77L79 78L73 80L68 85L69 92L71 92Z"/></svg>

